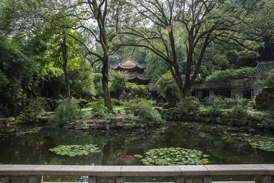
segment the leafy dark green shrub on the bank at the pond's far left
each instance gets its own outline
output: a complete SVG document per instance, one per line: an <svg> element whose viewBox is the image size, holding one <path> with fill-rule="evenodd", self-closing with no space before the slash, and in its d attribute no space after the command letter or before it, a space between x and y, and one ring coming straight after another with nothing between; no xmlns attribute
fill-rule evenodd
<svg viewBox="0 0 274 183"><path fill-rule="evenodd" d="M28 118L33 118L42 113L45 113L46 103L47 101L43 97L30 99L28 101L28 104L24 107L23 111L21 112L21 120L27 121Z"/></svg>

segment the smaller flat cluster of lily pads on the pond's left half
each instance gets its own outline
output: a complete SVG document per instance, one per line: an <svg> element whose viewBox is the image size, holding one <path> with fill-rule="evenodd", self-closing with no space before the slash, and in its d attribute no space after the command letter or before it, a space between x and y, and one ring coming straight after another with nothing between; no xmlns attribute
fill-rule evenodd
<svg viewBox="0 0 274 183"><path fill-rule="evenodd" d="M70 157L74 157L77 155L88 155L89 153L98 153L101 150L93 144L86 144L86 145L59 145L50 151L58 155L68 155Z"/></svg>

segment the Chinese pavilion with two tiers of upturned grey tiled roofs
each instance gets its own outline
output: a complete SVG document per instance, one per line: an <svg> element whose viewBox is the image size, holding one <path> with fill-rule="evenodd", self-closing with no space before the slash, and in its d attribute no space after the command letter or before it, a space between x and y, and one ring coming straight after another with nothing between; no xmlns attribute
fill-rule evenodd
<svg viewBox="0 0 274 183"><path fill-rule="evenodd" d="M146 66L136 63L131 59L126 59L124 62L111 66L115 71L127 71L127 81L136 84L148 85L151 78L142 75Z"/></svg>

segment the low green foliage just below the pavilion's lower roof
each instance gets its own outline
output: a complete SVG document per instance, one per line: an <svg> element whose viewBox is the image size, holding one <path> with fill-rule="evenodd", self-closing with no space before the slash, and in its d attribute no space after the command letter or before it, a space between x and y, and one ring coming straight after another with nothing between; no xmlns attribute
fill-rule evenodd
<svg viewBox="0 0 274 183"><path fill-rule="evenodd" d="M147 85L137 85L135 83L126 83L126 88L125 88L125 92L127 94L131 94L132 97L137 97L137 98L145 98L146 94L147 94L147 89L148 86Z"/></svg>

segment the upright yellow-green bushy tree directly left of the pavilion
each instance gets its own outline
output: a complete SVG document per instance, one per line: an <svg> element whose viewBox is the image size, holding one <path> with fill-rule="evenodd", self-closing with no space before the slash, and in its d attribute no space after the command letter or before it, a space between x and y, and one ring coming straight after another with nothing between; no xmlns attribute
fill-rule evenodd
<svg viewBox="0 0 274 183"><path fill-rule="evenodd" d="M112 70L113 79L111 80L110 91L115 94L116 98L120 98L124 95L127 75L124 71L114 71Z"/></svg>

